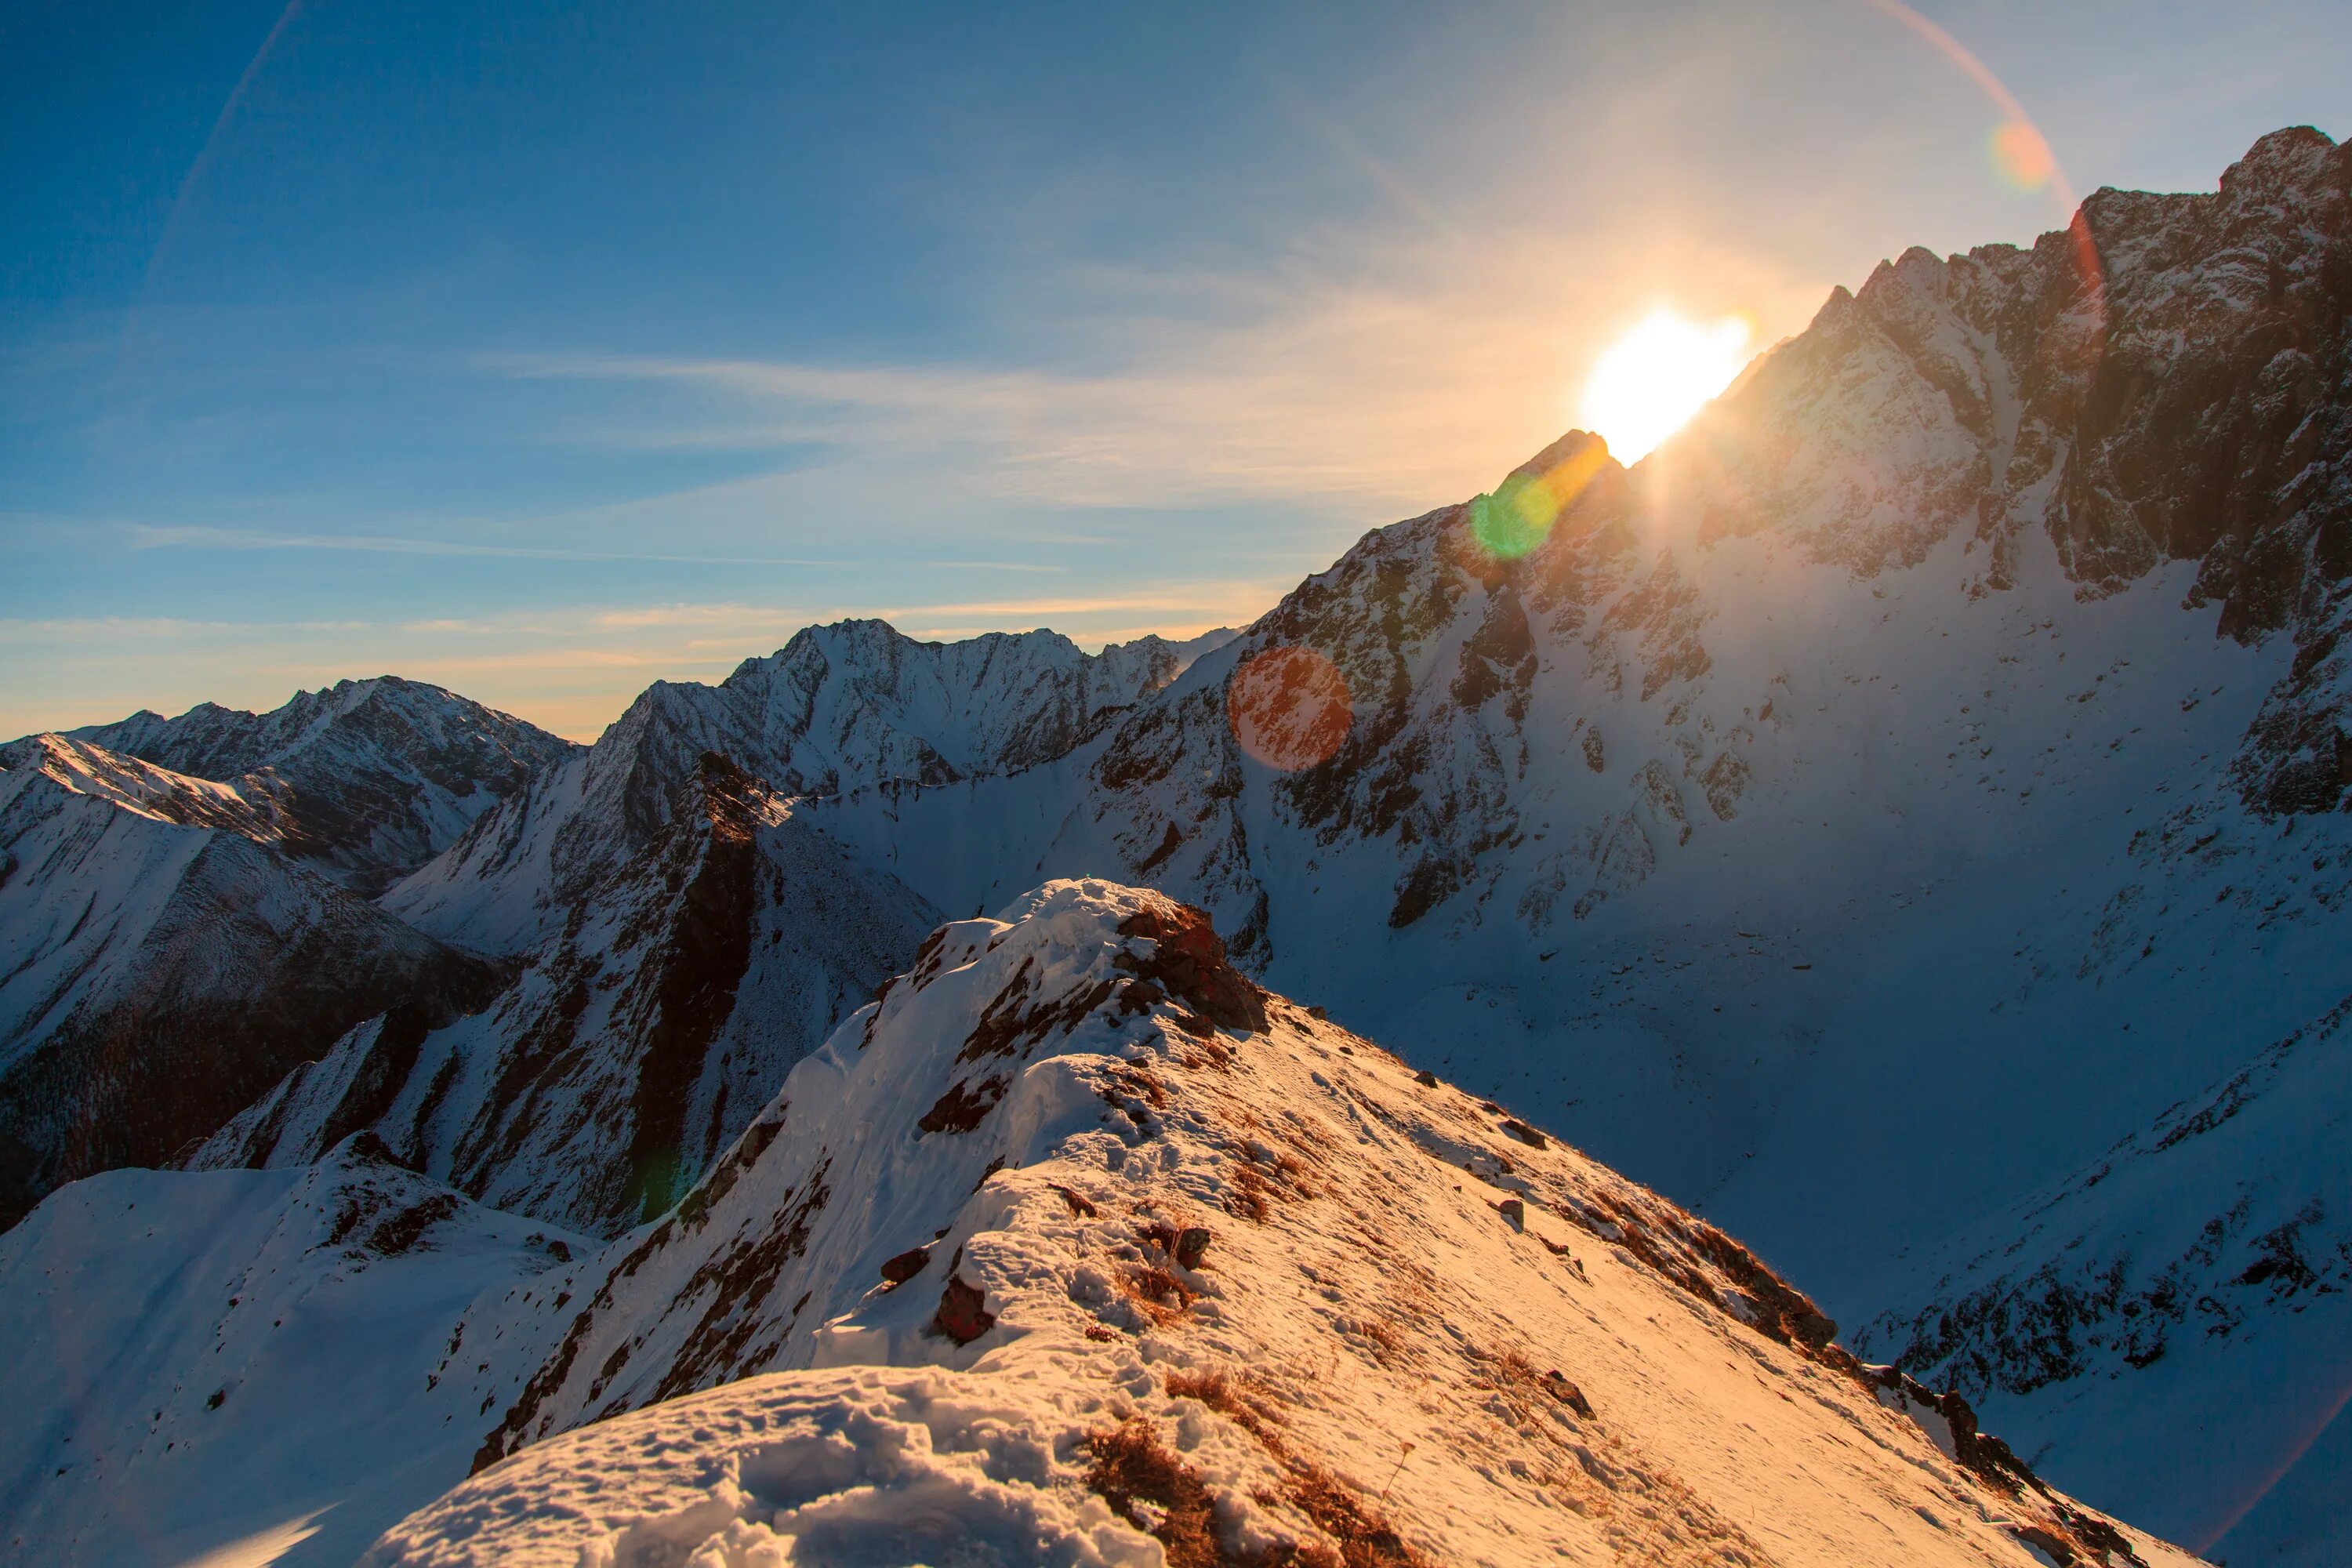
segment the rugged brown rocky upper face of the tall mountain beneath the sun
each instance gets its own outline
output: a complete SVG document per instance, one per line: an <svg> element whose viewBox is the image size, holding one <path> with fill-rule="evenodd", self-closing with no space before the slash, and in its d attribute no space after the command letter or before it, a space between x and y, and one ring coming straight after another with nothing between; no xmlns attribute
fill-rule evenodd
<svg viewBox="0 0 2352 1568"><path fill-rule="evenodd" d="M2241 698L2230 776L2246 806L2336 809L2352 785L2333 717L2352 571L2347 179L2352 153L2279 132L2218 195L2103 190L2030 252L1907 252L1637 475L1571 435L1494 496L1367 536L1254 625L1237 663L1296 644L1343 677L1352 724L1329 759L1244 769L1202 682L1117 729L1091 816L1129 870L1214 898L1263 957L1265 900L1287 889L1254 858L1251 795L1315 849L1385 839L1392 929L1512 893L1494 917L1541 936L1639 886L1693 820L1738 816L1792 701L1835 696L1778 691L1797 649L1759 658L1773 604L1755 590L1811 576L1797 604L1860 583L1882 607L1898 585L1957 590L1943 616L1912 592L1900 623L1795 628L1844 644L1823 649L1849 665L1837 679L1898 663L1870 644L1999 621L2027 576L2098 602L2169 585L2169 562L2192 567L2183 614L2293 651ZM1990 698L2042 679L2065 675L1997 670ZM1573 799L1578 762L1616 809ZM1496 851L1541 870L1498 877Z"/></svg>

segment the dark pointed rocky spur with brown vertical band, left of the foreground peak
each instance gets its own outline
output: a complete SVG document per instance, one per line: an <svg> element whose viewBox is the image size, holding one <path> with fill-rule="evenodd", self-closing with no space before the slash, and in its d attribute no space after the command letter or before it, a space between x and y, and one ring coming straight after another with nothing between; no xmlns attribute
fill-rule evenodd
<svg viewBox="0 0 2352 1568"><path fill-rule="evenodd" d="M668 1211L936 919L706 755L494 1006L358 1025L188 1164L301 1166L365 1128L485 1204L619 1234Z"/></svg>

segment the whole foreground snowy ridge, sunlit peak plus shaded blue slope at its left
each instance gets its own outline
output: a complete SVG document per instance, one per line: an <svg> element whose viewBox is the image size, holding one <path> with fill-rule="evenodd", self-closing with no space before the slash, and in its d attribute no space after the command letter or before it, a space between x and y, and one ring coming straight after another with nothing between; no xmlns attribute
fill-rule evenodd
<svg viewBox="0 0 2352 1568"><path fill-rule="evenodd" d="M2190 1561L1136 889L936 931L602 1253L386 1154L0 1237L12 1552L346 1561L414 1488L369 1563ZM160 1288L183 1328L113 1354Z"/></svg>

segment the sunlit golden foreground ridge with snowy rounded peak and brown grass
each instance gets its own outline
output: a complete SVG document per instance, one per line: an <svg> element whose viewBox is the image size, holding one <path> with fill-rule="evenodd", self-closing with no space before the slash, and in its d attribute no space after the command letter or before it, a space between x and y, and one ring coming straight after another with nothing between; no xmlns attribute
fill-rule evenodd
<svg viewBox="0 0 2352 1568"><path fill-rule="evenodd" d="M369 1563L2187 1561L1098 882L941 929L576 1279L513 1458Z"/></svg>

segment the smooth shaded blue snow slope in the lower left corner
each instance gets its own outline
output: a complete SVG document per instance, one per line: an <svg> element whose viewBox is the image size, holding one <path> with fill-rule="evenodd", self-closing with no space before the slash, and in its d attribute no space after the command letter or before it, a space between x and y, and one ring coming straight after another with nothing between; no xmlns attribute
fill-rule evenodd
<svg viewBox="0 0 2352 1568"><path fill-rule="evenodd" d="M73 1182L0 1237L0 1556L343 1568L466 1469L475 1432L430 1399L452 1319L586 1246L365 1138Z"/></svg>

